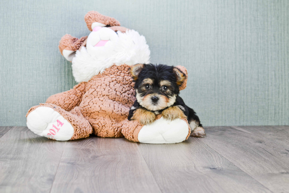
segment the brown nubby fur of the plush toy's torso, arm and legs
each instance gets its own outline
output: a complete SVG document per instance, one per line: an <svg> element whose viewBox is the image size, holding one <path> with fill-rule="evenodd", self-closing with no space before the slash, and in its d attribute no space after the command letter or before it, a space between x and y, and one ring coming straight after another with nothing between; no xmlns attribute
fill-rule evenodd
<svg viewBox="0 0 289 193"><path fill-rule="evenodd" d="M178 68L184 70L184 67ZM129 66L114 65L88 82L81 82L73 89L50 96L46 103L32 107L27 116L36 108L46 106L60 113L73 126L74 134L70 140L94 133L99 137L126 136L138 142L137 134L143 125L127 119L129 108L135 100L133 86Z"/></svg>

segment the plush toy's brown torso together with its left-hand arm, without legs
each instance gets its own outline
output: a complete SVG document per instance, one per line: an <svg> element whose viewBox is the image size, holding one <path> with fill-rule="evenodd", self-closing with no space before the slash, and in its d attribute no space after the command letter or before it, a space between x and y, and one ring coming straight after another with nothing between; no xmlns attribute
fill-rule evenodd
<svg viewBox="0 0 289 193"><path fill-rule="evenodd" d="M99 137L123 137L121 121L127 119L130 104L135 100L128 69L127 65L112 66L68 92L52 95L46 103L67 106L67 111L76 107Z"/></svg>

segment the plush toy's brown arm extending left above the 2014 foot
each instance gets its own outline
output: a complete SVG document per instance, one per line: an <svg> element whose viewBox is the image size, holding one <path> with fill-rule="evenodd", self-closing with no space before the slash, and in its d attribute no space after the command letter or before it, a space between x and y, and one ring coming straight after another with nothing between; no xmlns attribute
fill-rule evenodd
<svg viewBox="0 0 289 193"><path fill-rule="evenodd" d="M73 89L50 96L47 98L46 103L52 103L65 111L70 111L81 102L85 93L85 86L86 82L81 82L75 85Z"/></svg>

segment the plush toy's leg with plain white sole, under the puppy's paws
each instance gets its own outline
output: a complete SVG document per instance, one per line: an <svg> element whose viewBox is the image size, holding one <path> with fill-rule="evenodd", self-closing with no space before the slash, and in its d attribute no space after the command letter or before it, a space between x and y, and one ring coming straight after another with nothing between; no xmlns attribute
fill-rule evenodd
<svg viewBox="0 0 289 193"><path fill-rule="evenodd" d="M141 143L179 143L190 136L191 128L186 119L173 121L158 117L150 125L142 125L138 121L123 121L121 132L128 140Z"/></svg>

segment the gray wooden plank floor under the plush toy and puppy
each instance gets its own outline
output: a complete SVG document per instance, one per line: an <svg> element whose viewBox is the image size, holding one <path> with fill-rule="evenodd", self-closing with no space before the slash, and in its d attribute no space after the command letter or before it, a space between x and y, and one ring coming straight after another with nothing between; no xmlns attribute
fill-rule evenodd
<svg viewBox="0 0 289 193"><path fill-rule="evenodd" d="M0 127L0 192L289 192L289 126L205 130L155 145Z"/></svg>

